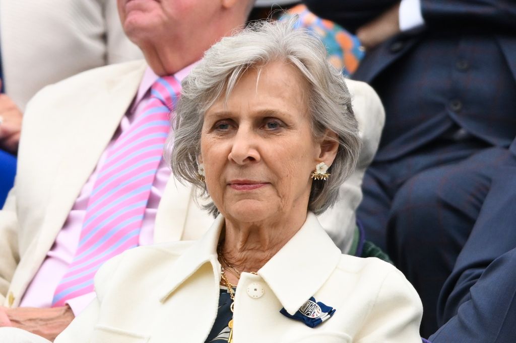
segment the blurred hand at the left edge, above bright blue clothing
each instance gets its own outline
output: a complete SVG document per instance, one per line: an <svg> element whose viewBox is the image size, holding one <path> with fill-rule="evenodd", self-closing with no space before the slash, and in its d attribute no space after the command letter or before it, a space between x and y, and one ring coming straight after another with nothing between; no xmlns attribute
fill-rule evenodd
<svg viewBox="0 0 516 343"><path fill-rule="evenodd" d="M0 87L2 80L0 80ZM22 112L5 94L0 94L0 149L16 153L22 130Z"/></svg>

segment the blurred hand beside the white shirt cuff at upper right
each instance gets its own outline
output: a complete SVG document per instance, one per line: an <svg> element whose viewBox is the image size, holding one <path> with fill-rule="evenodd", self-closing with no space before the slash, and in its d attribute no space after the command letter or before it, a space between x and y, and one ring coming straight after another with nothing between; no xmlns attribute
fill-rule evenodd
<svg viewBox="0 0 516 343"><path fill-rule="evenodd" d="M363 47L374 48L376 45L393 37L399 29L399 3L383 12L357 30L357 37Z"/></svg>

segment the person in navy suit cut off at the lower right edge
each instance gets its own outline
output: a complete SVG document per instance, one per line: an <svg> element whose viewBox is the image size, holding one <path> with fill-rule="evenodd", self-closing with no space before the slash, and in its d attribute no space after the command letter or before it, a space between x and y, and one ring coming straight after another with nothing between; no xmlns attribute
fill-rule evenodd
<svg viewBox="0 0 516 343"><path fill-rule="evenodd" d="M516 337L516 140L500 151L470 237L438 303L433 343L510 342Z"/></svg>

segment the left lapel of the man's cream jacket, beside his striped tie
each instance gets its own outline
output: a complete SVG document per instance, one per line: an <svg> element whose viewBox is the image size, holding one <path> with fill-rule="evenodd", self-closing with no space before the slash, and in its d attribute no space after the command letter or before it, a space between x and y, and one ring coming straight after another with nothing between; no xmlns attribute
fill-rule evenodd
<svg viewBox="0 0 516 343"><path fill-rule="evenodd" d="M73 115L75 125L71 130L63 132L61 141L66 142L67 148L56 168L39 235L17 268L24 272L15 275L11 282L11 290L18 295L14 305L19 303L28 283L52 248L80 190L131 105L146 67L143 62L128 64L128 71L101 82L103 88L91 92L87 106L77 107L75 113L68 114ZM66 113L63 113L63 117L66 117Z"/></svg>

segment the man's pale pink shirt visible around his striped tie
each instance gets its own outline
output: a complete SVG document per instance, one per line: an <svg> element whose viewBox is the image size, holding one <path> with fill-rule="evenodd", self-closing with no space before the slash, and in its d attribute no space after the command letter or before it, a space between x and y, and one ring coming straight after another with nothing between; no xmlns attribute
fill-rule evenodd
<svg viewBox="0 0 516 343"><path fill-rule="evenodd" d="M188 75L193 65L194 64L185 67L183 70L176 73L175 77L181 81L186 75ZM99 174L99 170L102 168L102 165L106 160L106 152L112 144L115 143L118 136L131 125L135 114L138 111L142 111L149 102L151 85L157 79L158 76L154 74L151 68L147 68L143 75L143 79L140 82L140 87L138 88L138 93L135 96L133 104L122 118L117 132L113 136L106 150L102 153L93 174L88 178L88 181L84 184L77 200L75 200L73 208L65 221L65 225L63 225L63 228L59 231L52 249L46 254L46 258L41 264L41 267L27 287L20 303L21 307L51 307L55 289L62 277L68 271L68 266L72 263L75 256L88 200L93 190L95 180ZM169 178L170 169L162 160L156 171L156 177L152 184L147 208L143 215L139 235L139 245L149 245L154 241L154 220L156 218L159 200L162 197ZM72 308L73 313L77 316L94 297L95 294L92 292L70 299L67 303Z"/></svg>

